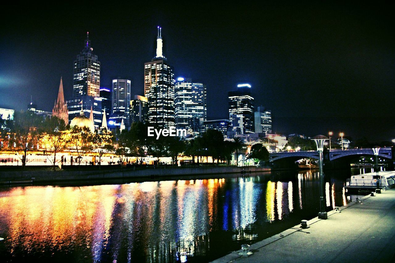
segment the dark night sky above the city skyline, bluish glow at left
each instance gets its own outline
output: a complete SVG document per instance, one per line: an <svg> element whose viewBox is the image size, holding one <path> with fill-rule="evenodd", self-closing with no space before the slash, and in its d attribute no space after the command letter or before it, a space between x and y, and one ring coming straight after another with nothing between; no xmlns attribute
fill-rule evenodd
<svg viewBox="0 0 395 263"><path fill-rule="evenodd" d="M228 90L250 83L256 107L272 110L274 132L395 138L392 6L163 3L3 12L0 107L26 109L32 95L38 109L52 111L60 76L71 98L87 31L101 86L128 78L132 95L143 95L143 65L160 25L175 77L207 85L208 119L228 118Z"/></svg>

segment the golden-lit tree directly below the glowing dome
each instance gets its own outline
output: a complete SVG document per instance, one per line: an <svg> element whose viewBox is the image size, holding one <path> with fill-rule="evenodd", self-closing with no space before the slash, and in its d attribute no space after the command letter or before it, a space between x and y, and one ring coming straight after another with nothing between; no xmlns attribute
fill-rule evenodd
<svg viewBox="0 0 395 263"><path fill-rule="evenodd" d="M92 150L93 133L89 128L80 128L74 126L68 138L68 146L77 152L78 165L81 164L81 159L84 154Z"/></svg>

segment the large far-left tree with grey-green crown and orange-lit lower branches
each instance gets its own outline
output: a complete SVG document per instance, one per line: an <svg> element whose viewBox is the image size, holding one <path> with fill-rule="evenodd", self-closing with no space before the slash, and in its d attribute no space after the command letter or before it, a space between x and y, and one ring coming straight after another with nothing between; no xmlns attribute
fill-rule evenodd
<svg viewBox="0 0 395 263"><path fill-rule="evenodd" d="M22 154L23 167L26 165L28 153L38 143L42 121L33 111L15 111L13 120L7 120L9 147L17 154Z"/></svg>

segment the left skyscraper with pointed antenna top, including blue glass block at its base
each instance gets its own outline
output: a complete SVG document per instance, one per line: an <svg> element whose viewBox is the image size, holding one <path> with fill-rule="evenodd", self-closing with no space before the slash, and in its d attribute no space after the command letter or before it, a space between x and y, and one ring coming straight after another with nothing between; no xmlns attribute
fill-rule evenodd
<svg viewBox="0 0 395 263"><path fill-rule="evenodd" d="M101 127L103 117L100 98L100 62L90 45L89 32L83 50L74 61L73 98L67 101L69 122L80 115L81 106L86 116L89 116L92 107L94 125Z"/></svg>

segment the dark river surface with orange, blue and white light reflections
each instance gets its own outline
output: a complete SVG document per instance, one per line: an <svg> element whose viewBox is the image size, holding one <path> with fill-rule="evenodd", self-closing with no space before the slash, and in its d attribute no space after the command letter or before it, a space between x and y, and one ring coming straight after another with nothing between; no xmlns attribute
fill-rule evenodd
<svg viewBox="0 0 395 263"><path fill-rule="evenodd" d="M327 210L355 198L343 188L350 175L325 173ZM1 261L211 261L315 217L318 183L299 171L0 188Z"/></svg>

